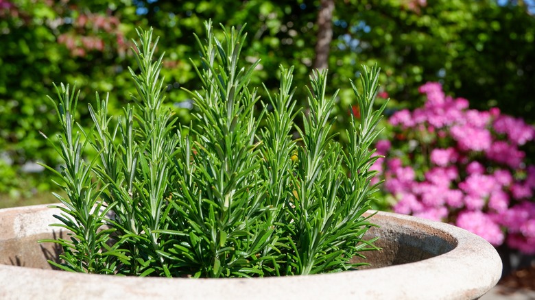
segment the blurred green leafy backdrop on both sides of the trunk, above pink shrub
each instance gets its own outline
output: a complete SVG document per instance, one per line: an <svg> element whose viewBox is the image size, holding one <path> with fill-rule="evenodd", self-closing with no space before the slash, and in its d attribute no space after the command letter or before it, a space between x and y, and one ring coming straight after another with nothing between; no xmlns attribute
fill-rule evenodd
<svg viewBox="0 0 535 300"><path fill-rule="evenodd" d="M167 57L166 105L188 122L191 103L180 87L199 86L187 58L197 57L193 33L202 36L204 20L248 23L250 45L244 56L261 59L253 83L272 89L280 63L296 65L296 82L311 73L320 2L0 0L0 192L29 197L49 188L41 173L28 171L38 171L36 161L58 162L38 134L58 131L45 97L53 95L52 82L76 83L82 103L94 101L95 90L109 91L110 110L119 112L134 92L126 85L126 66L133 60L128 48L135 27L152 26L163 37L158 51ZM533 123L535 18L530 3L335 1L328 90L341 89L335 129L348 126L348 108L356 104L347 79L358 75L359 64L375 62L384 71L382 91L394 100L394 109L421 105L417 87L438 81L445 92L470 99L473 108L497 106ZM296 99L304 103L304 89L296 91ZM80 114L84 124L88 114Z"/></svg>

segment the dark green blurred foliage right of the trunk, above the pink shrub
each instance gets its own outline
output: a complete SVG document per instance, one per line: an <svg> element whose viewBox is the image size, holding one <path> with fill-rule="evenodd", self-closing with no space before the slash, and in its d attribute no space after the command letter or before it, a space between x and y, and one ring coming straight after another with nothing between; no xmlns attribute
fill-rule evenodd
<svg viewBox="0 0 535 300"><path fill-rule="evenodd" d="M533 123L535 18L525 2L337 2L331 65L378 61L385 90L403 105L419 105L416 86L439 81L474 108L497 106Z"/></svg>

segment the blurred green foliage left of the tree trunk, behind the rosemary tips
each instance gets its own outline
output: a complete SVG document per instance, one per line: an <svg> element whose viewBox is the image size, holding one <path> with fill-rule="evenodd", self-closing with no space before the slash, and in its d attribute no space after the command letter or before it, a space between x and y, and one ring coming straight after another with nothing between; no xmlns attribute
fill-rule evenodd
<svg viewBox="0 0 535 300"><path fill-rule="evenodd" d="M54 95L53 82L82 89L78 118L82 126L88 121L86 103L94 101L95 91L110 92L112 110L129 100L134 90L126 71L132 65L128 48L138 26L152 26L161 36L168 103L184 122L189 121L191 103L180 86L198 87L187 58L197 62L193 34L202 38L202 22L209 18L226 26L248 23L250 45L244 56L248 63L262 60L254 78L257 84L278 86L281 63L296 64L296 77L306 79L314 58L317 5L278 2L283 3L0 0L0 177L9 174L0 192L26 185L21 181L22 166L56 162L39 136L57 131L46 98Z"/></svg>

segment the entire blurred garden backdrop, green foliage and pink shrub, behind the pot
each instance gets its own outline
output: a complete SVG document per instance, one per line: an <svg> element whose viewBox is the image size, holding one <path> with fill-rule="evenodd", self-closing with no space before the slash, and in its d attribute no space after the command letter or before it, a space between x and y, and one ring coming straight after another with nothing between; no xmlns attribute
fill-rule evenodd
<svg viewBox="0 0 535 300"><path fill-rule="evenodd" d="M379 153L400 160L377 166L392 183L377 194L377 207L410 214L418 214L418 207L425 212L420 215L457 225L469 219L465 227L482 227L480 234L495 245L516 234L523 246L532 245L513 242L517 249L535 252L534 2L0 0L0 208L55 201L51 173L38 164L60 164L40 135L59 129L46 96L54 95L53 83L76 84L82 126L88 125L86 103L95 102L95 92L109 92L112 112L119 112L134 92L127 66L134 64L130 41L136 27L154 27L160 36L166 105L180 123L189 123L193 103L181 88L200 86L189 58L198 57L193 34L203 38L202 23L211 18L227 27L247 23L243 56L261 59L253 84L276 89L279 64L296 66L296 82L307 81L313 68L329 68L329 92L340 88L335 130L342 142L350 114L359 114L348 79L359 76L360 64L379 64L378 102L390 98ZM305 90L296 90L300 103L305 97ZM454 116L444 114L449 108ZM465 134L463 144L468 127L475 131ZM477 130L488 145L468 145L481 140ZM433 158L433 149L444 152ZM504 159L511 153L515 162ZM457 172L450 179L432 177L448 168ZM471 191L498 175L505 176L499 204L490 197L497 190ZM442 188L457 190L462 199L426 200L423 188L433 180L445 180ZM506 214L525 221L492 219Z"/></svg>

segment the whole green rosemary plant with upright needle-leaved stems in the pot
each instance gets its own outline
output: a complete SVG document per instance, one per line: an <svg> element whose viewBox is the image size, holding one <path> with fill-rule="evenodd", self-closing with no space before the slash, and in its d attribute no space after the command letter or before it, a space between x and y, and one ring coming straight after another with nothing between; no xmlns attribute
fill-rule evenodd
<svg viewBox="0 0 535 300"><path fill-rule="evenodd" d="M188 127L163 106L152 29L134 41L136 95L121 116L108 116L108 97L97 94L87 131L75 123L75 88L56 86L63 132L51 145L64 165L47 168L67 193L56 195L53 226L70 233L42 241L63 247L62 264L51 264L139 276L305 275L357 268L351 258L377 249L363 236L373 226L364 212L376 190L369 149L384 109L374 108L379 69L363 67L362 92L353 85L361 116L342 149L326 71L311 75L306 111L293 98L293 67L281 67L278 93L263 102L250 87L259 62L240 60L242 30L223 28L219 40L208 22L206 39L195 36L202 87L188 91L196 108ZM98 155L86 160L90 148Z"/></svg>

